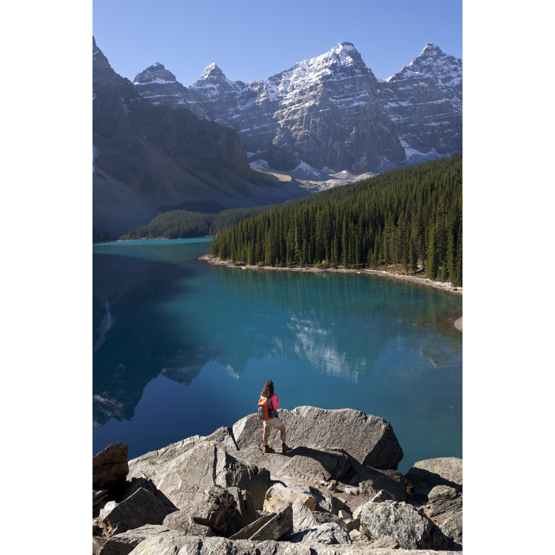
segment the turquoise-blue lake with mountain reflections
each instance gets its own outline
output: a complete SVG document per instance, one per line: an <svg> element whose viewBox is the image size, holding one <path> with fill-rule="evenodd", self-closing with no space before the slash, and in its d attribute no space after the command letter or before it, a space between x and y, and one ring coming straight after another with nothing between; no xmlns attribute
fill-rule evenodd
<svg viewBox="0 0 555 555"><path fill-rule="evenodd" d="M449 320L462 297L374 275L212 266L198 260L209 241L93 245L93 455L122 441L134 458L232 426L272 379L280 408L390 421L400 472L462 457L462 334Z"/></svg>

